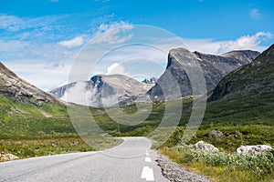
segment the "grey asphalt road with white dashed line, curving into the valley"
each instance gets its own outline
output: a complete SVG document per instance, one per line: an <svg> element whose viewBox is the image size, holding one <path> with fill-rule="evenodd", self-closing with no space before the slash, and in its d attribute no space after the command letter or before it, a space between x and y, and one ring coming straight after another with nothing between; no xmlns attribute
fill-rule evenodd
<svg viewBox="0 0 274 182"><path fill-rule="evenodd" d="M118 147L0 163L0 181L168 181L145 137L124 137Z"/></svg>

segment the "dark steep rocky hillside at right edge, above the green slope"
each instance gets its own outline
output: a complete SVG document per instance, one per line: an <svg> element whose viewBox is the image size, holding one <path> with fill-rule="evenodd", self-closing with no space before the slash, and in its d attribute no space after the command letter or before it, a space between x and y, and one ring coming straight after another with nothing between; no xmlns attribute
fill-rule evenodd
<svg viewBox="0 0 274 182"><path fill-rule="evenodd" d="M216 86L209 101L227 96L271 96L274 92L274 45L253 62L224 77ZM270 101L269 101L270 102Z"/></svg>

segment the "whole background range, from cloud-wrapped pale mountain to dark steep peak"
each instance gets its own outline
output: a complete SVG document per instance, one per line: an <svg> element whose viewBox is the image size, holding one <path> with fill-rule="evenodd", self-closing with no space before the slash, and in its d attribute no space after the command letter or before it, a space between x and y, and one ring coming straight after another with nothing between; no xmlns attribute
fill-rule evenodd
<svg viewBox="0 0 274 182"><path fill-rule="evenodd" d="M136 98L139 101L147 101L149 98L153 101L174 100L196 95L185 72L187 67L191 69L192 63L201 66L205 74L206 90L210 91L224 76L239 66L250 63L258 55L256 51L245 50L215 56L176 48L170 51L166 70L159 79L153 77L141 83L121 75L92 76L89 81L60 86L50 93L68 102L97 107L124 104ZM180 91L174 89L174 85L179 86ZM205 94L206 90L198 94ZM86 95L87 99L79 100L79 94Z"/></svg>

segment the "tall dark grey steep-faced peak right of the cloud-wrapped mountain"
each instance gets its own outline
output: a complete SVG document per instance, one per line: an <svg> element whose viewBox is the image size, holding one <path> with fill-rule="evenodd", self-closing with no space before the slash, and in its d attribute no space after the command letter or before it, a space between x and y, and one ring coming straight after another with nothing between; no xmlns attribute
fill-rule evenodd
<svg viewBox="0 0 274 182"><path fill-rule="evenodd" d="M258 54L255 51L234 51L222 56L215 56L199 52L192 53L184 48L173 49L168 55L165 72L147 94L153 100L173 100L183 96L205 94L205 89L194 93L193 86L191 86L193 83L187 73L193 73L192 76L197 82L195 84L199 85L199 78L195 78L195 68L197 68L195 64L200 65L205 76L206 90L210 91L224 76L239 66L248 64ZM181 94L175 93L174 87L176 86L179 86Z"/></svg>

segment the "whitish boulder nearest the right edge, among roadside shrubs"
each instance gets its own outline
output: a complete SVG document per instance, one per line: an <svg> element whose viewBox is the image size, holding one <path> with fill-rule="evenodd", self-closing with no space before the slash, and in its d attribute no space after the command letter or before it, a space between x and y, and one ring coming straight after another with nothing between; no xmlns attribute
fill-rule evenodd
<svg viewBox="0 0 274 182"><path fill-rule="evenodd" d="M271 150L271 149L272 147L267 145L241 146L237 148L237 154L261 155L261 154L265 154L268 150Z"/></svg>

